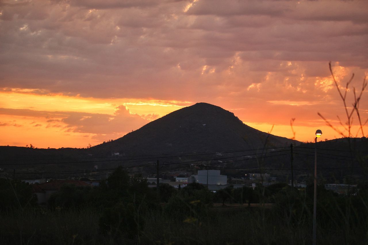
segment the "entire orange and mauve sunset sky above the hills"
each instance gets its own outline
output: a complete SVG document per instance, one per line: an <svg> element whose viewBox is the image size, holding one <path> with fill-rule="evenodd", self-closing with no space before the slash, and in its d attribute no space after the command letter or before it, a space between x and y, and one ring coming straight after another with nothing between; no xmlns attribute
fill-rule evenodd
<svg viewBox="0 0 368 245"><path fill-rule="evenodd" d="M264 132L347 134L368 75L365 0L0 0L0 145L97 145L215 104ZM366 91L367 92L367 91ZM368 95L359 112L368 118ZM338 117L340 118L341 124ZM353 136L362 136L353 114ZM272 130L271 130L272 129ZM359 131L360 130L360 131ZM363 128L368 136L368 127Z"/></svg>

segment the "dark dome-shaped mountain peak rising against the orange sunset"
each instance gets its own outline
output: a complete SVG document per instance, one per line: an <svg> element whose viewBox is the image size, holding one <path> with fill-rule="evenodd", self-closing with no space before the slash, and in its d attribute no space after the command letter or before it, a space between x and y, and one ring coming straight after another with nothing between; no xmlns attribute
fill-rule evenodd
<svg viewBox="0 0 368 245"><path fill-rule="evenodd" d="M167 154L289 146L296 142L251 128L219 106L197 103L89 150L98 155Z"/></svg>

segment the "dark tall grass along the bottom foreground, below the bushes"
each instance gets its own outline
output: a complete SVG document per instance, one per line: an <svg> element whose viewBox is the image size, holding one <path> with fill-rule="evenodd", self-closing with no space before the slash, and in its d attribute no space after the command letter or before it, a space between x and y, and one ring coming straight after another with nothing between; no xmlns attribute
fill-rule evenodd
<svg viewBox="0 0 368 245"><path fill-rule="evenodd" d="M119 234L102 235L101 212L93 208L1 214L1 244L311 244L310 217L291 221L277 209L240 206L236 209L210 208L198 219L173 216L162 210L144 214L145 226L138 238ZM302 221L302 222L298 222ZM340 227L319 219L318 244L345 244ZM22 224L20 224L22 222ZM20 235L20 225L22 235ZM349 244L367 244L367 223L350 228Z"/></svg>

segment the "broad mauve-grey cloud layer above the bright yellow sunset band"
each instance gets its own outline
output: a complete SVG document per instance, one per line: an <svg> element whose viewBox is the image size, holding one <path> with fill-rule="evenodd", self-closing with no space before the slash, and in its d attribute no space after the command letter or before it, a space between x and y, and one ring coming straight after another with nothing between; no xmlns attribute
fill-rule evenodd
<svg viewBox="0 0 368 245"><path fill-rule="evenodd" d="M4 1L0 87L193 102L226 95L235 106L252 96L276 100L265 86L258 95L247 88L288 78L295 89L280 93L301 99L314 81L300 78L328 76L328 61L364 76L367 7L358 0Z"/></svg>

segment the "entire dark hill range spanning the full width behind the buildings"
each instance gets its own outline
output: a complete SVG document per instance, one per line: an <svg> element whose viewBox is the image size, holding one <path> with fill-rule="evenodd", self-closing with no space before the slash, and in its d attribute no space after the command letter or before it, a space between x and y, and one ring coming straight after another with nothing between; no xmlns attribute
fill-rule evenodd
<svg viewBox="0 0 368 245"><path fill-rule="evenodd" d="M269 157L261 160L262 164L269 168L287 170L290 167L290 143L299 146L294 148L294 175L296 177L298 175L312 176L314 143L301 143L261 132L245 125L230 111L212 104L197 103L167 114L119 139L89 149L31 149L0 146L0 175L12 178L13 168L17 170L17 173L26 170L31 170L33 173L80 171L93 170L95 165L98 165L99 169L115 168L119 165L139 166L160 159L161 164L188 161L195 161L196 164L222 164L222 167L231 167L223 169L222 173L229 176L243 176L241 174L248 173L244 167L256 169L259 162L256 159L243 161L246 156L241 155L256 153L255 151L227 153L226 155L215 152L260 149L264 146L266 148L287 146L288 148L283 149L286 150L285 152L273 156L272 150L269 150L268 153L263 152ZM362 173L359 164L366 164L368 139L363 137L340 138L330 141L319 140L317 148L318 173L325 176L329 182L335 182L336 179L343 181L346 174L358 176ZM120 154L114 155L115 152ZM211 152L211 154L177 155L196 152ZM169 155L162 156L162 154ZM258 157L262 156L261 151L258 151L257 154ZM221 159L221 157L230 157L231 161L234 161L227 162L229 158ZM347 167L353 163L356 166L347 171ZM12 166L13 164L14 166ZM170 165L170 167L182 169L183 165ZM236 167L243 168L243 170L237 170ZM188 171L193 171L189 167L185 168L188 168ZM301 169L298 170L298 168ZM325 170L322 170L323 168ZM1 171L4 171L4 174L1 174ZM144 171L148 171L146 173L155 172L155 166L144 168ZM290 172L287 170L273 174L279 174L281 181L287 181ZM105 173L102 175L105 176ZM31 176L40 178L41 175L16 175L17 178L30 178ZM67 175L46 174L45 177L47 176L49 178L63 178ZM91 176L93 177L93 174ZM305 177L300 177L300 181L304 179Z"/></svg>

